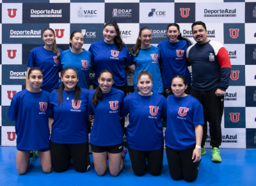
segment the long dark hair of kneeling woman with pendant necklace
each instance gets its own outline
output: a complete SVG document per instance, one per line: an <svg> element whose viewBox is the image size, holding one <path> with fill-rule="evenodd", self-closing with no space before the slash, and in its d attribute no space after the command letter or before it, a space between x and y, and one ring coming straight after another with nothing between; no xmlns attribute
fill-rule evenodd
<svg viewBox="0 0 256 186"><path fill-rule="evenodd" d="M62 76L64 76L66 71L68 71L69 69L72 69L76 73L77 78L78 78L78 73L77 73L76 69L74 69L74 68L72 68L70 66L68 66L67 68L63 69ZM61 82L60 87L58 87L56 89L59 92L58 93L58 107L60 106L60 104L61 104L61 106L63 104L63 90L64 90L64 88L65 88L65 85L64 85L63 82ZM74 95L75 95L75 102L77 104L77 101L78 101L78 99L80 99L80 96L81 96L81 89L80 89L80 87L78 87L77 84L76 84L76 87L75 87L75 90L74 90Z"/></svg>

